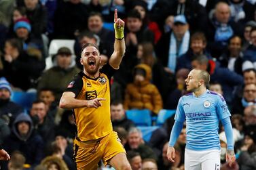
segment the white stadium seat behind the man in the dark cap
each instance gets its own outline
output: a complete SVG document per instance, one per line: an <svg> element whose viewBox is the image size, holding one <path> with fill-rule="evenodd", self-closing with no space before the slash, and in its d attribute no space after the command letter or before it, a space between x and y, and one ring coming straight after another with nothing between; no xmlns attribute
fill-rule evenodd
<svg viewBox="0 0 256 170"><path fill-rule="evenodd" d="M74 45L75 45L75 40L73 39L53 39L50 42L48 57L45 58L45 64L46 64L45 70L52 68L53 66L52 56L57 54L57 51L60 47L68 47L71 50L72 57L75 58Z"/></svg>

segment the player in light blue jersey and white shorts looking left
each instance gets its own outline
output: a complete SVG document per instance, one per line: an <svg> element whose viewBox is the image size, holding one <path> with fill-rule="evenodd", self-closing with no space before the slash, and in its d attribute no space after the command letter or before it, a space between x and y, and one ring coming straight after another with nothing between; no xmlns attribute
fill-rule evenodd
<svg viewBox="0 0 256 170"><path fill-rule="evenodd" d="M210 75L204 70L191 70L185 83L187 95L180 98L175 114L175 125L170 133L168 160L174 162L175 142L181 133L183 122L187 124L185 170L220 169L219 121L227 137L226 160L231 166L235 161L232 125L227 104L218 93L206 89Z"/></svg>

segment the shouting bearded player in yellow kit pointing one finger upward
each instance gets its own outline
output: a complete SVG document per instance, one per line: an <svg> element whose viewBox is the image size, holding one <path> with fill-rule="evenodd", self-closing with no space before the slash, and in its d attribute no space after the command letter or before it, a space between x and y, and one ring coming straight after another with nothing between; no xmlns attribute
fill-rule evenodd
<svg viewBox="0 0 256 170"><path fill-rule="evenodd" d="M114 16L115 43L109 62L100 68L100 53L94 44L81 49L79 72L60 99L60 108L73 108L77 126L74 158L77 169L97 169L102 159L117 170L130 170L126 151L112 129L110 118L111 76L120 66L125 53L124 21Z"/></svg>

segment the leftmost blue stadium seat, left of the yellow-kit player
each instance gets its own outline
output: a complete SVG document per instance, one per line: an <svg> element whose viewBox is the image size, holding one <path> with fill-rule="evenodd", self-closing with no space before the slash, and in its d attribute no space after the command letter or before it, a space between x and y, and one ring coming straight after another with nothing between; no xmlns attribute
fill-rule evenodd
<svg viewBox="0 0 256 170"><path fill-rule="evenodd" d="M16 104L20 104L26 111L31 109L32 103L36 100L37 93L34 92L24 92L24 91L13 91L11 100Z"/></svg>

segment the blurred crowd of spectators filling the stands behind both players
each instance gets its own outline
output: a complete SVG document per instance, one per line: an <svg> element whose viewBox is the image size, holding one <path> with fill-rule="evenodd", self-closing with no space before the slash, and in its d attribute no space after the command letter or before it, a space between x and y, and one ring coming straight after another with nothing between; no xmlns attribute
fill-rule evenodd
<svg viewBox="0 0 256 170"><path fill-rule="evenodd" d="M184 169L185 125L170 163L173 116L146 142L126 110L175 110L192 68L210 73L208 89L232 113L237 160L225 163L220 125L221 169L256 169L255 0L0 0L0 144L11 154L1 168L75 169L75 120L58 102L83 70L83 45L98 45L102 66L111 57L114 9L126 22L126 54L111 79L111 120L132 169ZM52 54L56 39L73 45ZM37 93L31 108L11 100L16 91Z"/></svg>

